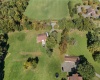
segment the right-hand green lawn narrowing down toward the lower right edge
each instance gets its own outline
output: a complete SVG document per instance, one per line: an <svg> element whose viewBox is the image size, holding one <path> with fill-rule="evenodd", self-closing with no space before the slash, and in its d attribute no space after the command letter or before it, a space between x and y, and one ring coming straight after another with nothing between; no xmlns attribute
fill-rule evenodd
<svg viewBox="0 0 100 80"><path fill-rule="evenodd" d="M67 54L74 56L84 55L84 57L94 66L95 71L100 74L100 63L93 60L92 53L87 49L86 32L76 31L71 33L70 37L75 38L76 44L69 46Z"/></svg>

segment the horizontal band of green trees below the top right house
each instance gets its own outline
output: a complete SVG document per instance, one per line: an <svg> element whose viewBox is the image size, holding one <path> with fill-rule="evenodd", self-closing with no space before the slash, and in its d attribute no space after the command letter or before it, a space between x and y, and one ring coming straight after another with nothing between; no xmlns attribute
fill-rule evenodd
<svg viewBox="0 0 100 80"><path fill-rule="evenodd" d="M67 29L78 29L80 31L89 31L95 28L95 25L91 19L83 17L70 20L63 18L58 21L58 24L60 26L59 27L60 29L67 28Z"/></svg>

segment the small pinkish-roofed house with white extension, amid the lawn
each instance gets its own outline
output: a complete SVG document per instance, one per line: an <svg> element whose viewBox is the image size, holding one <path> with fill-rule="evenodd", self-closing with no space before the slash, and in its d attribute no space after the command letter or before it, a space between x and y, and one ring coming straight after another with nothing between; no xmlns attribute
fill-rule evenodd
<svg viewBox="0 0 100 80"><path fill-rule="evenodd" d="M43 33L43 34L38 34L37 43L42 42L42 45L45 46L47 37L48 37L48 33L47 32Z"/></svg>

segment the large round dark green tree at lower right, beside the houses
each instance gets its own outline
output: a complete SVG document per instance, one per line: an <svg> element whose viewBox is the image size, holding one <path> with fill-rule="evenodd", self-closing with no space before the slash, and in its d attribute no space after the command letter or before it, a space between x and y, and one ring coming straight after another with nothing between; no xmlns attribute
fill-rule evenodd
<svg viewBox="0 0 100 80"><path fill-rule="evenodd" d="M95 76L95 70L93 66L87 62L79 64L78 73L83 77L84 80L91 80Z"/></svg>

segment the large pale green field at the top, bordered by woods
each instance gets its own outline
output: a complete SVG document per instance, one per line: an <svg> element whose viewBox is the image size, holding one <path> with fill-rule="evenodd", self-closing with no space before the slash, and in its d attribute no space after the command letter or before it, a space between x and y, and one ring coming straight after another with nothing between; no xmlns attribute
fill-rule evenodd
<svg viewBox="0 0 100 80"><path fill-rule="evenodd" d="M69 17L70 0L30 0L25 15L34 20L58 20ZM82 0L71 0L73 5Z"/></svg>

